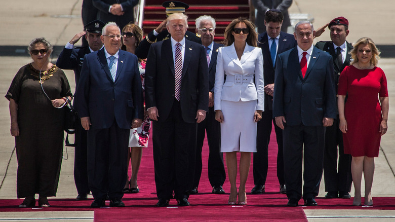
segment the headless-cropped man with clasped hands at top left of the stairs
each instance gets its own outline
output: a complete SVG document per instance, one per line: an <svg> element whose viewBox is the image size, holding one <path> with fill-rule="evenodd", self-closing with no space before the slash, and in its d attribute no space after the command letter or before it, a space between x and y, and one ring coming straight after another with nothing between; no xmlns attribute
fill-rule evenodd
<svg viewBox="0 0 395 222"><path fill-rule="evenodd" d="M138 0L92 0L98 9L97 19L104 23L115 22L121 30L129 22L134 22L133 7Z"/></svg>

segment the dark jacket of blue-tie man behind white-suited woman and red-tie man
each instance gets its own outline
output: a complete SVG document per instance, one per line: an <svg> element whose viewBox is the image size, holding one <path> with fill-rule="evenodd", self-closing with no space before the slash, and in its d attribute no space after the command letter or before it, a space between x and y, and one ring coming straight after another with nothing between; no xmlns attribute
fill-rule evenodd
<svg viewBox="0 0 395 222"><path fill-rule="evenodd" d="M280 32L279 46L277 49L277 55L294 48L297 42L294 35L285 32ZM271 60L268 35L263 32L258 35L258 47L262 49L263 55L263 78L265 86L274 83L274 68ZM265 93L265 110L273 109L273 97Z"/></svg>

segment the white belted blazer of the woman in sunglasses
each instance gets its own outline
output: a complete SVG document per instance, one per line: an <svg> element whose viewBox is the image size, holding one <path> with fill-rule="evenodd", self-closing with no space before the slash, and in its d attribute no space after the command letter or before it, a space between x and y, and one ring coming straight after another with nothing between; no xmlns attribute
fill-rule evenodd
<svg viewBox="0 0 395 222"><path fill-rule="evenodd" d="M263 56L261 48L246 43L239 60L234 43L220 47L214 84L214 110L221 109L221 100L238 102L257 99L257 110L264 111ZM226 82L224 77L226 73ZM254 82L255 76L255 82Z"/></svg>

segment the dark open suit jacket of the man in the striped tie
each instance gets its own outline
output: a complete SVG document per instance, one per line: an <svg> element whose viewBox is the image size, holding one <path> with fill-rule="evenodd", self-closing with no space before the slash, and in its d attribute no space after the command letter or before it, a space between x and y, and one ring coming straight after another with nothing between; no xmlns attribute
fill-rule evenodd
<svg viewBox="0 0 395 222"><path fill-rule="evenodd" d="M171 40L152 44L145 66L146 108L156 106L158 121L165 121L174 102L175 72ZM185 40L180 106L182 119L195 123L198 109L208 112L209 77L204 47Z"/></svg>

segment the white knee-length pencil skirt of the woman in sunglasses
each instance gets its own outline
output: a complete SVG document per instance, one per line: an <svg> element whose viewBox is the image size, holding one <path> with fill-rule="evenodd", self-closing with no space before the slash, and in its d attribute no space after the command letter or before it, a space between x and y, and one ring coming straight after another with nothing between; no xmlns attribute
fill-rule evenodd
<svg viewBox="0 0 395 222"><path fill-rule="evenodd" d="M256 152L254 113L257 100L231 102L221 100L221 152Z"/></svg>

